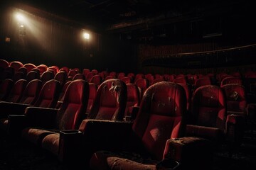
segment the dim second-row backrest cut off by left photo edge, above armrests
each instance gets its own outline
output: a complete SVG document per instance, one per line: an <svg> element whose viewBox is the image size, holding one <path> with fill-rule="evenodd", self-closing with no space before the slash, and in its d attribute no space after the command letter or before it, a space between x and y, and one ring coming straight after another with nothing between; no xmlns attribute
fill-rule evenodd
<svg viewBox="0 0 256 170"><path fill-rule="evenodd" d="M12 79L4 79L3 81L1 81L0 101L6 101L13 86L14 86L14 81Z"/></svg>

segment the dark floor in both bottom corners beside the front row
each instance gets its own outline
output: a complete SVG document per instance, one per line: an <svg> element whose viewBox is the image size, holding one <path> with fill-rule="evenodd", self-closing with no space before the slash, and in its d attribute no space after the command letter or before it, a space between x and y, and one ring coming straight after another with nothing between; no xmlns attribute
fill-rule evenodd
<svg viewBox="0 0 256 170"><path fill-rule="evenodd" d="M254 138L252 137L254 136ZM242 146L228 157L225 149L215 152L212 170L256 169L256 133L245 133ZM191 158L192 159L192 158ZM21 140L10 140L0 137L0 170L68 170L67 166L58 162L52 154L41 148L24 143ZM71 168L73 169L73 168ZM80 169L85 169L80 167ZM195 168L196 169L196 168Z"/></svg>

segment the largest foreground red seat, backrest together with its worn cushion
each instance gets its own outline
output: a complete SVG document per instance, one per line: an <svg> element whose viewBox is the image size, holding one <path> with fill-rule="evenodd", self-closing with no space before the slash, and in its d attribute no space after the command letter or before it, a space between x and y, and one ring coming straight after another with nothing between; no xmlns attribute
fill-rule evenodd
<svg viewBox="0 0 256 170"><path fill-rule="evenodd" d="M184 135L185 114L186 93L181 85L162 81L149 86L124 147L119 152L95 152L90 168L156 169L166 141Z"/></svg>

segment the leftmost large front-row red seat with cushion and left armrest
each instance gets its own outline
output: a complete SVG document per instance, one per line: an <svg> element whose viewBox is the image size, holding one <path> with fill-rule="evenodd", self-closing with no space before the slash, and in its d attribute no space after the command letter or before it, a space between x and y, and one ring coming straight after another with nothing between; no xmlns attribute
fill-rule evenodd
<svg viewBox="0 0 256 170"><path fill-rule="evenodd" d="M72 81L65 92L63 103L54 114L48 114L51 111L43 110L43 108L41 111L26 112L30 126L22 130L21 137L36 145L41 145L41 140L48 134L60 130L78 129L82 119L85 118L88 95L87 81L81 79ZM42 114L37 116L40 113ZM44 114L48 114L50 117L44 117ZM40 124L35 123L39 120ZM47 146L47 144L43 146Z"/></svg>

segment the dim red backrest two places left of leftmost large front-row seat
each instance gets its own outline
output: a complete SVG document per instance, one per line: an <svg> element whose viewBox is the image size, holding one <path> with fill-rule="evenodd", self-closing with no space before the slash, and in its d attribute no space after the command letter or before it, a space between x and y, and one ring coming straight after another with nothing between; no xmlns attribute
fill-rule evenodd
<svg viewBox="0 0 256 170"><path fill-rule="evenodd" d="M38 99L42 86L42 81L40 79L28 81L19 103L33 105Z"/></svg>

